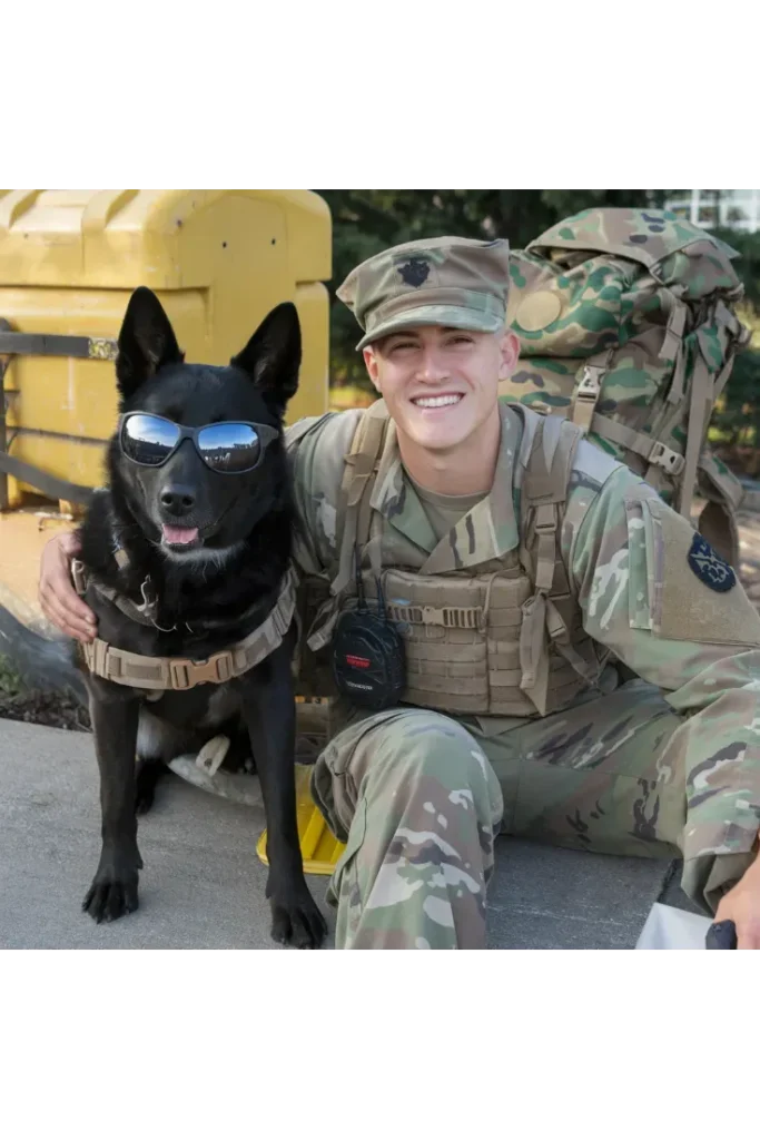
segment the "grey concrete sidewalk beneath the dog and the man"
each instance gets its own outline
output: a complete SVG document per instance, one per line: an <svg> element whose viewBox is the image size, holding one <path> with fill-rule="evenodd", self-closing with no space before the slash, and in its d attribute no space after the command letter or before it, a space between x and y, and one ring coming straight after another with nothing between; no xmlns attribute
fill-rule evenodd
<svg viewBox="0 0 760 1140"><path fill-rule="evenodd" d="M169 773L139 822L140 909L96 927L81 912L100 852L92 738L0 719L0 951L283 953L255 853L263 826L261 809ZM630 953L668 869L501 839L489 947ZM327 880L309 883L332 935ZM667 901L687 906L679 895Z"/></svg>

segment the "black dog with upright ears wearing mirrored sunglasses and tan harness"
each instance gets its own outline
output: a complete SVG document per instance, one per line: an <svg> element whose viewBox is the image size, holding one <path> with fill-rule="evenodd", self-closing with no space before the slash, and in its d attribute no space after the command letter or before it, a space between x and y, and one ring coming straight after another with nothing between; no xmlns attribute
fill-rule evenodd
<svg viewBox="0 0 760 1140"><path fill-rule="evenodd" d="M165 764L220 734L239 748L243 734L267 817L271 935L316 950L326 934L296 830L292 606L286 626L281 614L271 620L288 580L294 508L283 417L300 366L293 304L278 306L229 366L214 367L185 364L154 293L138 288L130 299L119 339L121 415L107 451L108 487L88 508L75 568L98 619L99 641L83 650L82 663L103 811L100 863L83 910L98 922L138 906L137 807L149 806L153 780L140 790L136 756L144 765ZM206 430L182 434L178 425ZM240 650L268 619L263 650L261 638ZM218 665L214 656L230 646ZM180 687L155 676L148 686L146 662L115 651L186 659L161 665L164 679L170 667ZM248 667L251 656L256 663ZM205 661L207 675L190 667ZM232 675L214 683L214 669Z"/></svg>

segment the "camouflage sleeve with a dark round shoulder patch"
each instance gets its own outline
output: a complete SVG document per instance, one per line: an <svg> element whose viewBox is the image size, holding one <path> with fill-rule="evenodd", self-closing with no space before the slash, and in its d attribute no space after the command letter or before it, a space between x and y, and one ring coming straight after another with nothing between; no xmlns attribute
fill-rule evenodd
<svg viewBox="0 0 760 1140"><path fill-rule="evenodd" d="M760 616L734 569L648 483L615 466L596 491L575 486L564 544L586 630L677 708L712 703L721 675L730 690L754 682Z"/></svg>

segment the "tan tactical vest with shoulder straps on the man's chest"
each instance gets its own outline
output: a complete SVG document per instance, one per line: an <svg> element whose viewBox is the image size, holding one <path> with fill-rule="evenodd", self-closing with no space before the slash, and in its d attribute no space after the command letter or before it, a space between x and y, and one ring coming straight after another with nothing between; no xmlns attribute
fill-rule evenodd
<svg viewBox="0 0 760 1140"><path fill-rule="evenodd" d="M403 703L450 714L534 716L556 711L598 681L606 656L582 629L559 551L567 486L581 429L515 407L523 425L518 548L476 568L423 575L379 565L386 521L370 507L389 414L383 400L359 422L346 456L332 600L308 645L329 645L340 613L357 605L354 549L367 602L382 584L406 645ZM309 624L307 625L309 628Z"/></svg>

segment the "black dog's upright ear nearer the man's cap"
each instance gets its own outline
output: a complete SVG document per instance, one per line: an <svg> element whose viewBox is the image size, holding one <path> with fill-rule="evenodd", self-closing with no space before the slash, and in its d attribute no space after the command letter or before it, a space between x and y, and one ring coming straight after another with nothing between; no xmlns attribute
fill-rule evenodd
<svg viewBox="0 0 760 1140"><path fill-rule="evenodd" d="M278 304L230 364L253 380L267 404L283 415L299 389L301 321L291 301Z"/></svg>

